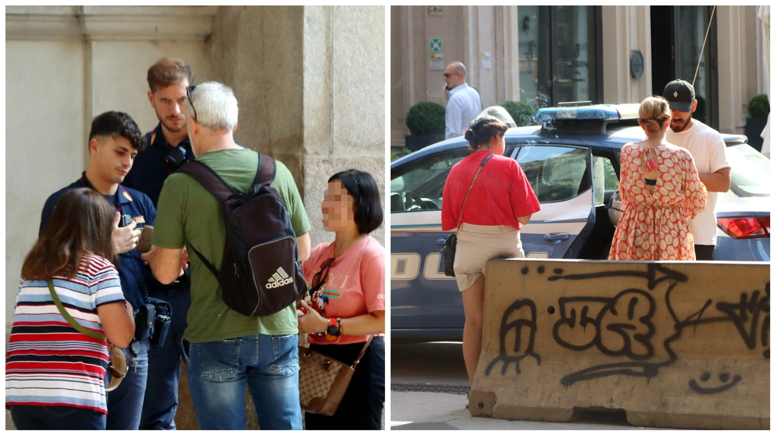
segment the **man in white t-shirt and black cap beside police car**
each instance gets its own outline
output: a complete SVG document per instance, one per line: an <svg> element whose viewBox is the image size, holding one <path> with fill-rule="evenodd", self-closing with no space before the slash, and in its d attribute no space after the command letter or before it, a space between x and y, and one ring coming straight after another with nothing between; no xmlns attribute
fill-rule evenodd
<svg viewBox="0 0 776 436"><path fill-rule="evenodd" d="M718 131L692 119L698 101L695 100L695 88L687 81L670 81L663 91L663 97L671 109L670 130L666 140L690 151L695 168L698 168L698 176L708 191L705 209L695 216L695 220L690 220L690 230L695 240L695 258L698 261L713 261L717 244L717 219L714 213L717 192L730 189L730 165L725 156L725 141Z"/></svg>

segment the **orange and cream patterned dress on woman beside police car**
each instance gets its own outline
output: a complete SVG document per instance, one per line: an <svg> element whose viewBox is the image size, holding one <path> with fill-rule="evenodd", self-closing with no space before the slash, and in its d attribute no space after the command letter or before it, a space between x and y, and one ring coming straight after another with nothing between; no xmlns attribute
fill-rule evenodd
<svg viewBox="0 0 776 436"><path fill-rule="evenodd" d="M706 187L689 151L663 144L655 152L660 175L650 192L639 171L649 149L636 144L622 147L619 193L625 210L611 240L611 260L695 260L688 220L705 207Z"/></svg>

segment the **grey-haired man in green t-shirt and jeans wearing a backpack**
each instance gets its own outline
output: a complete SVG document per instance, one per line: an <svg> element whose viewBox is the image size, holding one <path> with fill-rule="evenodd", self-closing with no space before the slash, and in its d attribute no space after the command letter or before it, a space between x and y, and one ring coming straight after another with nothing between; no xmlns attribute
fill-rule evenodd
<svg viewBox="0 0 776 436"><path fill-rule="evenodd" d="M189 140L196 160L240 192L253 183L265 156L234 142L237 99L223 84L210 81L187 88ZM277 189L295 234L300 261L310 255L310 222L299 190L284 164L275 161ZM216 276L200 258L221 265L227 230L222 205L189 175L176 172L159 195L151 251L144 259L162 283L178 277L186 252L191 261L189 325L183 336L186 375L199 427L245 429L245 385L251 390L262 430L301 429L299 344L296 308L267 317L245 317L222 299ZM188 250L183 250L188 247Z"/></svg>

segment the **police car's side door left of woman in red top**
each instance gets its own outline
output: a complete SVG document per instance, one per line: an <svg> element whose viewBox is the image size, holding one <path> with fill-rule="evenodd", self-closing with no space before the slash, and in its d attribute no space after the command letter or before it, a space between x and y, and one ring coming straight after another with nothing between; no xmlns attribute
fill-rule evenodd
<svg viewBox="0 0 776 436"><path fill-rule="evenodd" d="M444 274L439 250L450 234L442 231L442 189L450 168L466 156L464 144L391 169L391 330L397 338L445 339L447 329L463 325L456 279Z"/></svg>

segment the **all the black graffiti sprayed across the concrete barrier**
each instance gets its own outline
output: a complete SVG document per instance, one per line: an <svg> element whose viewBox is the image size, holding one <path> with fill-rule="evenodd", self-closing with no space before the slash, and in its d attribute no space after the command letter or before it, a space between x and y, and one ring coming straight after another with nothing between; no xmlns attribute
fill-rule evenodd
<svg viewBox="0 0 776 436"><path fill-rule="evenodd" d="M544 274L544 266L536 272ZM528 267L521 273L527 275ZM563 275L563 269L556 268L547 280L582 281L591 279L646 279L646 289L623 289L615 296L574 296L558 299L558 317L553 324L553 339L563 348L584 351L597 348L604 355L626 358L623 362L594 365L572 372L560 379L563 386L609 375L631 375L649 379L656 377L660 369L673 365L677 353L672 344L682 337L685 330L695 331L702 324L729 323L735 326L747 348L754 350L758 344L764 348L763 357L770 358L770 282L763 289L741 292L736 302L705 300L698 307L672 305L672 293L677 285L687 282L688 277L658 264L647 265L645 270L619 270L592 272L588 274ZM632 280L629 281L632 285ZM668 337L656 337L656 296L663 299L667 312L674 322ZM715 312L716 310L716 312ZM548 308L550 315L554 308ZM680 314L681 313L681 314ZM499 331L499 354L487 365L485 375L501 363L501 374L505 374L511 363L520 374L520 362L529 355L537 364L541 357L534 351L534 337L537 330L535 303L531 299L518 299L505 312ZM656 346L662 345L667 356L655 362ZM646 362L649 361L649 362ZM712 381L710 372L704 372L698 379L692 378L688 385L695 393L721 393L741 382L741 375L721 372L721 384Z"/></svg>

